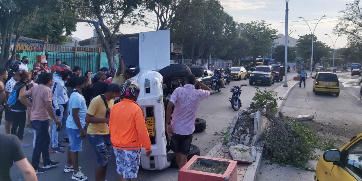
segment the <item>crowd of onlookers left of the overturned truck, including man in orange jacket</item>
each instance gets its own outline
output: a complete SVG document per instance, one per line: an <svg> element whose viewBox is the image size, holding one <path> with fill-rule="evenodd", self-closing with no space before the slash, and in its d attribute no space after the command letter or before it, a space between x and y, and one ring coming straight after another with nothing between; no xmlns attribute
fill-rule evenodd
<svg viewBox="0 0 362 181"><path fill-rule="evenodd" d="M51 67L47 60L41 60L32 70L28 70L28 63L29 58L24 56L10 63L9 72L0 69L0 124L4 112L6 132L0 134L0 162L5 163L0 164L0 180L11 180L13 162L25 180L37 180L35 173L44 173L60 163L51 160L49 153L66 151L63 171L72 172L73 180L87 180L78 160L86 136L96 155L96 181L106 180L111 151L120 180L136 178L140 148L146 148L146 156L152 152L143 111L136 103L138 84L126 81L136 75L138 67L129 66L122 74L120 64L118 70L102 67L82 76L81 67L70 68L59 59ZM23 151L30 146L23 141L26 126L34 134L31 164ZM132 168L130 161L135 163Z"/></svg>

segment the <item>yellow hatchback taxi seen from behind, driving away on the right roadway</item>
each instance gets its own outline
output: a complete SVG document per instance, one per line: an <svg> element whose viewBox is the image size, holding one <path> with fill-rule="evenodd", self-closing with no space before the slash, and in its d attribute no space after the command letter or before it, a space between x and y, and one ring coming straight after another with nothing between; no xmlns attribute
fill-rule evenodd
<svg viewBox="0 0 362 181"><path fill-rule="evenodd" d="M336 73L318 72L314 77L313 92L317 95L320 92L334 93L339 96L340 88Z"/></svg>

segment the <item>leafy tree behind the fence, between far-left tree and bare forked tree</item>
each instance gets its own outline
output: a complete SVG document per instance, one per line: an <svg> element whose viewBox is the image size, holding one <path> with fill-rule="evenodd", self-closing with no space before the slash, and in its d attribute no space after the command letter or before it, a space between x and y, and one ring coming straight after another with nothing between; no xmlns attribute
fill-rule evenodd
<svg viewBox="0 0 362 181"><path fill-rule="evenodd" d="M74 17L75 8L71 0L50 0L49 5L43 6L34 15L33 23L26 28L24 36L46 40L49 35L49 43L63 44L69 41L67 36L76 30L76 21L69 19Z"/></svg>

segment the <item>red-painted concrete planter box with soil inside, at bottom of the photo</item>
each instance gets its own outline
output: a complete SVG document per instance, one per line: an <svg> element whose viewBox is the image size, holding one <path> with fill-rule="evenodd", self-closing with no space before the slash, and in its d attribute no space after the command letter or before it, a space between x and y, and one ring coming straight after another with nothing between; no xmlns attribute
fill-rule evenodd
<svg viewBox="0 0 362 181"><path fill-rule="evenodd" d="M189 169L199 162L225 165L226 169L224 174ZM195 155L178 171L178 181L237 181L237 161Z"/></svg>

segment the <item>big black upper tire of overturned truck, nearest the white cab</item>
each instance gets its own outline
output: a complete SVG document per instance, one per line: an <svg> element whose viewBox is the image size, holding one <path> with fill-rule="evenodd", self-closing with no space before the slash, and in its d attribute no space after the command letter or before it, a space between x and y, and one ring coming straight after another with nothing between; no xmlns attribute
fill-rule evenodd
<svg viewBox="0 0 362 181"><path fill-rule="evenodd" d="M184 64L174 64L159 70L163 76L163 82L166 83L175 77L186 77L191 72L190 68Z"/></svg>

